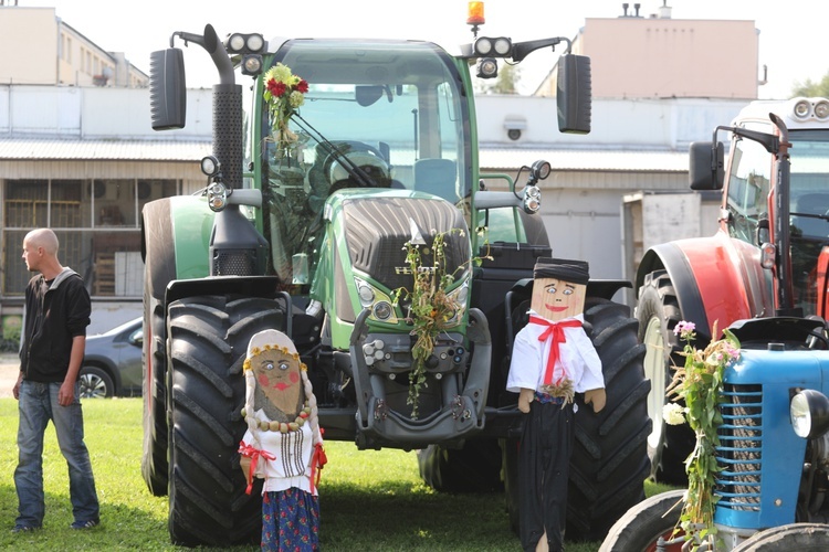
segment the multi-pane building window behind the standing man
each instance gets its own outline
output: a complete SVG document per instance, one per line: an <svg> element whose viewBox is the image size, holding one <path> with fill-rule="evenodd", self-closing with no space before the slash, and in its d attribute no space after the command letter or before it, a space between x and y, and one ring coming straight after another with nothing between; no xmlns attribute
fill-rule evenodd
<svg viewBox="0 0 829 552"><path fill-rule="evenodd" d="M141 297L140 209L178 193L175 180L7 180L2 295L22 295L32 276L21 256L25 234L51 227L61 264L93 297Z"/></svg>

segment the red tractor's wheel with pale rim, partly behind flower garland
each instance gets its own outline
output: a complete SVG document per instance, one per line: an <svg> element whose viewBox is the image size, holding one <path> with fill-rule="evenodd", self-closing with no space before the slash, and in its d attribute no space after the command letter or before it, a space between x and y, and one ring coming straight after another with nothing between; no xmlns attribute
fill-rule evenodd
<svg viewBox="0 0 829 552"><path fill-rule="evenodd" d="M682 320L682 312L676 291L665 270L646 276L639 291L637 318L639 340L647 348L644 374L651 381L651 394L648 399L648 415L653 421L653 431L648 437L651 477L684 487L688 484L684 463L694 449L694 434L686 424L665 424L662 415L662 407L675 399L665 393L673 379L674 367L685 362L679 354L682 348L673 332L676 323Z"/></svg>

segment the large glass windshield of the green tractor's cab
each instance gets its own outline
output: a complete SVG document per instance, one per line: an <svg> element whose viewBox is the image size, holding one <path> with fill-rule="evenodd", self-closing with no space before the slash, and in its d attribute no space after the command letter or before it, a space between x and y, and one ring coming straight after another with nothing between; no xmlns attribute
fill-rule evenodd
<svg viewBox="0 0 829 552"><path fill-rule="evenodd" d="M262 113L264 230L283 282L311 282L305 267L313 272L323 208L337 190L403 189L452 203L470 194L470 118L443 51L426 42L292 40L276 63L308 83L287 135Z"/></svg>

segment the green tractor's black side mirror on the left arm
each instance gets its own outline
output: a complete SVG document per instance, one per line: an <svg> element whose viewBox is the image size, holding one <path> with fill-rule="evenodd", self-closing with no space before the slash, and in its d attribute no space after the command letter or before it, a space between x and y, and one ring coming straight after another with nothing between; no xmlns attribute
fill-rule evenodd
<svg viewBox="0 0 829 552"><path fill-rule="evenodd" d="M185 56L178 47L158 50L149 56L149 110L153 130L185 128Z"/></svg>

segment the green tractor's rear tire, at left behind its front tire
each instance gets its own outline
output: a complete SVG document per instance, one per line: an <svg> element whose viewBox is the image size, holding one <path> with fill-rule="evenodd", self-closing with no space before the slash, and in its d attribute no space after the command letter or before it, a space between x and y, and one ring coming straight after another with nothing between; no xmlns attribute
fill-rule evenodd
<svg viewBox="0 0 829 552"><path fill-rule="evenodd" d="M141 476L156 497L167 495L167 327L164 294L176 279L170 200L149 202L141 213L144 253L144 443Z"/></svg>

